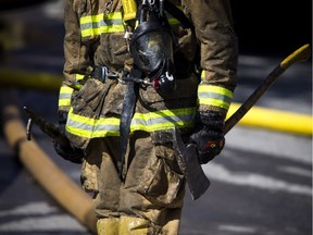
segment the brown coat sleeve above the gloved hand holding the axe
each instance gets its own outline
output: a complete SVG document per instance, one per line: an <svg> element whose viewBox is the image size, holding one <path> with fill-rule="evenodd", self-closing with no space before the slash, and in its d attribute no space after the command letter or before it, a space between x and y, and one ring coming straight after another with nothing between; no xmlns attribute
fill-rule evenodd
<svg viewBox="0 0 313 235"><path fill-rule="evenodd" d="M228 0L183 0L200 45L199 110L226 115L236 87L237 36Z"/></svg>

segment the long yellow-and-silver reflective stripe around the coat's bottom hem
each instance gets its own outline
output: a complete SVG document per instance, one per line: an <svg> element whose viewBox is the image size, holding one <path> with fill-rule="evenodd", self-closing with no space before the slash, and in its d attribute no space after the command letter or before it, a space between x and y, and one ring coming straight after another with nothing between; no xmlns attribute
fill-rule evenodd
<svg viewBox="0 0 313 235"><path fill-rule="evenodd" d="M195 114L196 108L135 113L130 124L130 132L155 132L173 128L174 126L192 127ZM66 131L73 135L85 138L118 136L120 119L100 118L96 120L74 114L73 108L71 108L66 123Z"/></svg>

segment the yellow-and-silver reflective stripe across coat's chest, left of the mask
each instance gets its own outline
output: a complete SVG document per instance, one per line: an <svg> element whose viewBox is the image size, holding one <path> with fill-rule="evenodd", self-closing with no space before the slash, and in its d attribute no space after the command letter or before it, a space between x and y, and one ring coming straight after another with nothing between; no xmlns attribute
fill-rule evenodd
<svg viewBox="0 0 313 235"><path fill-rule="evenodd" d="M98 15L87 15L80 17L80 29L83 37L97 36L108 33L123 33L124 25L121 12L112 12L104 16L104 13Z"/></svg>

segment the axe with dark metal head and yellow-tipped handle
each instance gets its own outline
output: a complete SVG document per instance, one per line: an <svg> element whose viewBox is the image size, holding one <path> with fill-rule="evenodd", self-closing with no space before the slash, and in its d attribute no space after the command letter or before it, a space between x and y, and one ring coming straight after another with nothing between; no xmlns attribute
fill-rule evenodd
<svg viewBox="0 0 313 235"><path fill-rule="evenodd" d="M224 134L226 135L254 106L260 97L270 86L292 64L299 61L305 61L310 58L311 50L309 45L304 45L293 53L284 59L263 81L263 83L250 95L241 107L225 122ZM192 200L196 200L205 193L210 186L210 181L205 176L198 160L197 146L193 144L184 144L178 128L174 127L174 149L178 154L177 162L184 173Z"/></svg>

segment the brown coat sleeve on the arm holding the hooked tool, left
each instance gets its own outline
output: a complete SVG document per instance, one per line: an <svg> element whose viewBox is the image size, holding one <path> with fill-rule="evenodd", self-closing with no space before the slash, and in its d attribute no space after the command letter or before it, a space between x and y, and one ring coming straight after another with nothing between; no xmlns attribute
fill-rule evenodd
<svg viewBox="0 0 313 235"><path fill-rule="evenodd" d="M85 3L84 3L85 2ZM64 81L59 94L59 111L68 111L74 90L80 88L90 65L88 48L82 41L79 14L86 8L86 0L66 0L64 9Z"/></svg>

